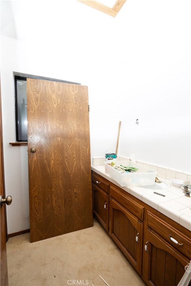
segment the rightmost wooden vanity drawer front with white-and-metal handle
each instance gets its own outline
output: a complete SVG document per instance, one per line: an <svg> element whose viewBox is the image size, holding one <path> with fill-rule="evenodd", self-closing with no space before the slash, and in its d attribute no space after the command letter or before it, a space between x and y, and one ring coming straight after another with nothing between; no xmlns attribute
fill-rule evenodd
<svg viewBox="0 0 191 286"><path fill-rule="evenodd" d="M173 226L161 220L159 217L153 213L147 211L146 215L147 227L153 229L161 237L163 237L168 243L173 247L177 248L183 254L185 254L189 259L191 259L191 238L184 235L184 233L178 231ZM171 240L170 237L174 240ZM178 242L179 244L177 244Z"/></svg>

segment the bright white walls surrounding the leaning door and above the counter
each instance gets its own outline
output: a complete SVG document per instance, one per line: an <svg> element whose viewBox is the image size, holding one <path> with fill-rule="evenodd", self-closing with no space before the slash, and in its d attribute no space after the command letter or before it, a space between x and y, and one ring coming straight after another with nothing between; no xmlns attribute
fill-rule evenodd
<svg viewBox="0 0 191 286"><path fill-rule="evenodd" d="M8 233L29 228L27 147L9 144L13 71L88 86L92 157L115 149L121 120L118 153L190 172L189 1L129 0L115 18L75 0L1 2L14 14L1 28Z"/></svg>

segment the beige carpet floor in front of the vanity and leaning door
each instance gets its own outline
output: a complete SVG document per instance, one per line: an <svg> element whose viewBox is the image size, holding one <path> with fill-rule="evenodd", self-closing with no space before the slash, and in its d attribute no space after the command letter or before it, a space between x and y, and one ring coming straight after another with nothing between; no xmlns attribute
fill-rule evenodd
<svg viewBox="0 0 191 286"><path fill-rule="evenodd" d="M91 228L35 243L29 233L9 238L7 265L9 286L146 285L96 219Z"/></svg>

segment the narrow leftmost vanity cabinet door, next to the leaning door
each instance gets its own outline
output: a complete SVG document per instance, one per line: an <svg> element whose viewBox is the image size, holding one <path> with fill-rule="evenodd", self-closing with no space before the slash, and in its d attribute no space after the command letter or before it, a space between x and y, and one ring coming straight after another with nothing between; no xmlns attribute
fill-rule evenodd
<svg viewBox="0 0 191 286"><path fill-rule="evenodd" d="M94 183L92 183L92 192L94 215L96 215L104 229L108 231L109 195Z"/></svg>

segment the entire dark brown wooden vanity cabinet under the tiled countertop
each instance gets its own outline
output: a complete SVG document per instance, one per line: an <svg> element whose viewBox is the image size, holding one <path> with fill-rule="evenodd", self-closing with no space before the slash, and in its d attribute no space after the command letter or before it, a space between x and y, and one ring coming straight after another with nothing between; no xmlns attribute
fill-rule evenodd
<svg viewBox="0 0 191 286"><path fill-rule="evenodd" d="M94 172L92 181L94 214L146 284L177 286L191 232Z"/></svg>

